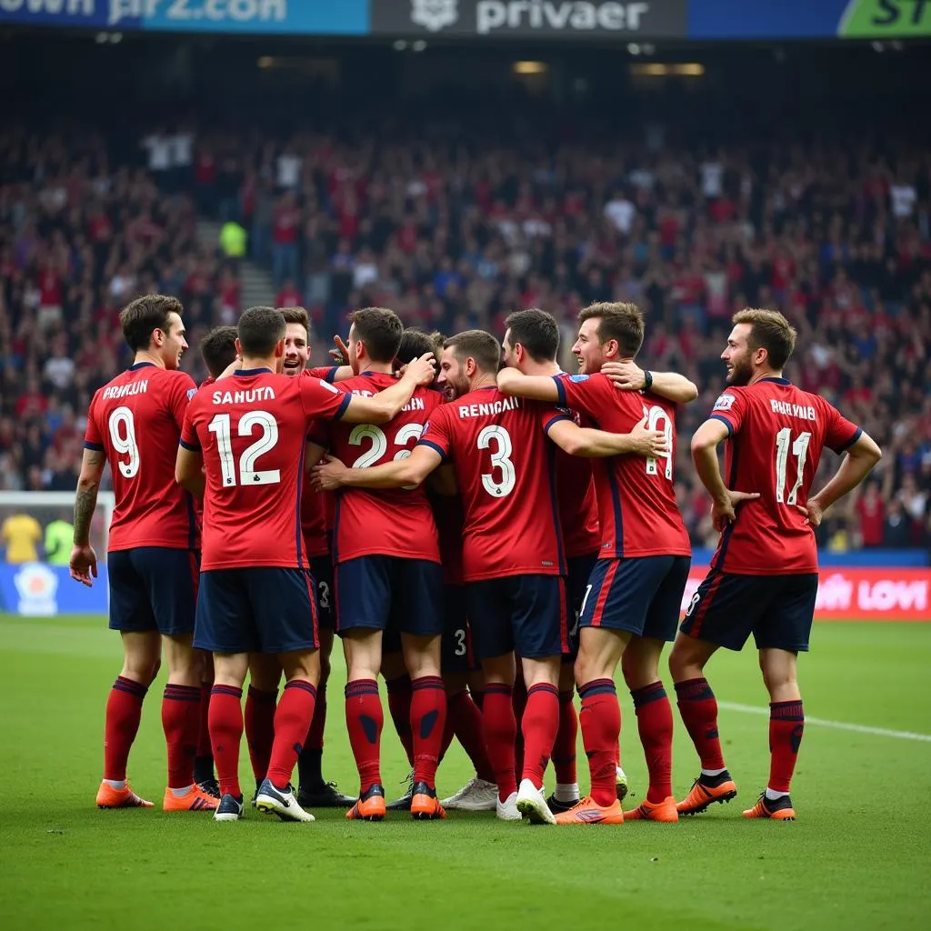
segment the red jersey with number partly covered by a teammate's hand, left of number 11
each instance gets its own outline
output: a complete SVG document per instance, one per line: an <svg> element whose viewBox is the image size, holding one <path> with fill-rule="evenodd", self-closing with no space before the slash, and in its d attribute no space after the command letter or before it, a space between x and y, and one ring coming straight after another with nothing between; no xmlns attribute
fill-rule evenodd
<svg viewBox="0 0 931 931"><path fill-rule="evenodd" d="M611 433L629 433L647 418L651 430L664 430L669 455L659 459L611 456L592 459L601 525L600 559L640 556L691 556L676 493L676 411L666 398L618 391L601 374L557 376L560 402Z"/></svg>

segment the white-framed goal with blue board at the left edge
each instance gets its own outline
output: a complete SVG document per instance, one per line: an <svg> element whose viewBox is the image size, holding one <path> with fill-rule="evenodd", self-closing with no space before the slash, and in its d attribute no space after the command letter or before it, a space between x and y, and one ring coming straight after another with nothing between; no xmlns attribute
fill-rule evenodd
<svg viewBox="0 0 931 931"><path fill-rule="evenodd" d="M0 492L0 614L103 614L113 492L100 492L90 526L98 578L88 588L68 573L74 492Z"/></svg>

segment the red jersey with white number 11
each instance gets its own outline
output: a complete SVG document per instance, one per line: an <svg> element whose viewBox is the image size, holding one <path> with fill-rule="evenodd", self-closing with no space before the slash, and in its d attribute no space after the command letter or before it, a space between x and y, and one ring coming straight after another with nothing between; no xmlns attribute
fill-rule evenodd
<svg viewBox="0 0 931 931"><path fill-rule="evenodd" d="M824 448L843 452L859 438L859 427L784 378L727 388L711 417L730 434L727 487L760 493L738 508L711 566L738 575L816 573L815 532L796 506L808 501Z"/></svg>

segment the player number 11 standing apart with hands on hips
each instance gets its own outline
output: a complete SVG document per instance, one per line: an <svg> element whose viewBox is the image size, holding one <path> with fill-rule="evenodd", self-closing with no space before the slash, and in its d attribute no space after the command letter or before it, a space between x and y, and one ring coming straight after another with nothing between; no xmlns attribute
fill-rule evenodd
<svg viewBox="0 0 931 931"><path fill-rule="evenodd" d="M718 735L718 705L705 666L720 648L753 634L769 692L770 774L745 817L793 820L789 783L804 729L798 654L807 652L817 594L814 528L867 477L876 443L818 395L783 378L795 331L771 310L742 310L721 358L727 388L692 438L692 458L722 532L711 568L682 621L669 669L701 774L678 805L695 815L736 795ZM717 448L725 442L724 472ZM809 497L821 453L846 452L828 484Z"/></svg>

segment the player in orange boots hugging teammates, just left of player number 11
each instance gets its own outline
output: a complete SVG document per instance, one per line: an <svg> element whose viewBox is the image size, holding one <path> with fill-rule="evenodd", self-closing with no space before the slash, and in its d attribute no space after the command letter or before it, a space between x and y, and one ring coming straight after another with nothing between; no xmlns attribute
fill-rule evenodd
<svg viewBox="0 0 931 931"><path fill-rule="evenodd" d="M675 637L692 550L673 491L675 407L649 389L659 381L665 392L676 380L682 399L695 398L697 391L681 376L652 372L641 372L642 393L618 391L601 373L606 362L632 362L640 351L643 317L634 304L592 304L579 322L573 353L581 374L531 378L505 369L498 376L499 388L506 395L558 398L587 421L617 432L645 423L666 434L668 449L645 460L618 455L594 463L601 546L582 601L575 661L591 793L556 820L624 821L615 781L621 719L614 670L621 664L650 774L646 800L629 816L675 821L672 711L659 679L659 657L665 642Z"/></svg>

